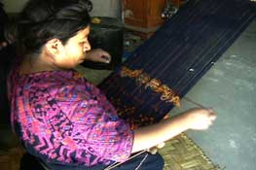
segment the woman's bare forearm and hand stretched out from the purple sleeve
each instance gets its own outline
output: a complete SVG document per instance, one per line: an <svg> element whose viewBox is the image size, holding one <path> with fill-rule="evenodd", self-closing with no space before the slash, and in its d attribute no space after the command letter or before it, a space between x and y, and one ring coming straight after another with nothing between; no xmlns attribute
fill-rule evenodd
<svg viewBox="0 0 256 170"><path fill-rule="evenodd" d="M188 130L205 130L216 119L210 109L191 109L171 119L134 130L132 153L150 149Z"/></svg>

